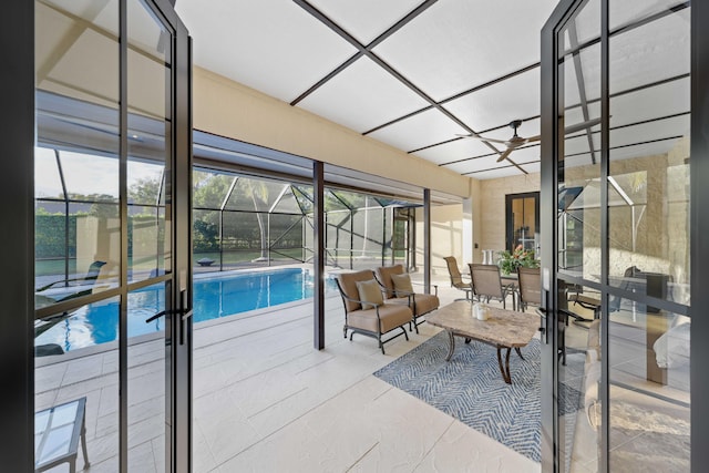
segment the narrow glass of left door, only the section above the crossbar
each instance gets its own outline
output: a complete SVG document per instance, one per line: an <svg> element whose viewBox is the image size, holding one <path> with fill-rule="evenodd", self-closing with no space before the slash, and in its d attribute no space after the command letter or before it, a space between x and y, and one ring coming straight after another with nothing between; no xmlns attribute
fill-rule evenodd
<svg viewBox="0 0 709 473"><path fill-rule="evenodd" d="M140 1L129 2L129 280L171 270L171 34Z"/></svg>

